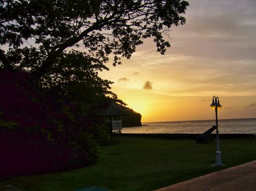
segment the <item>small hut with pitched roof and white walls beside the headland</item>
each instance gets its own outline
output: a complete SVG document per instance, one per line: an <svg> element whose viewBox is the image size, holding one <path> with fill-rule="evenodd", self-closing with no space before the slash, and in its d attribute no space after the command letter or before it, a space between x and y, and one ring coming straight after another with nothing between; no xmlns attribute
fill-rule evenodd
<svg viewBox="0 0 256 191"><path fill-rule="evenodd" d="M101 110L100 116L109 117L109 120L111 120L112 130L122 130L122 116L129 115L126 110L126 107L115 102L110 102L106 109Z"/></svg>

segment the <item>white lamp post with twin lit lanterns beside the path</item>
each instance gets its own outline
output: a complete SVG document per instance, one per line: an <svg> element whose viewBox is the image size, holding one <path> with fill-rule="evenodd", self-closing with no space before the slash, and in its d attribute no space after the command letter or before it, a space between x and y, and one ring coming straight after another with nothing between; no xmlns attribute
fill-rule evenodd
<svg viewBox="0 0 256 191"><path fill-rule="evenodd" d="M219 97L213 96L213 102L210 105L212 109L215 110L216 116L216 140L217 140L217 151L216 151L216 163L215 166L223 166L224 164L221 162L221 152L220 152L220 145L219 145L219 129L218 129L218 110L221 108Z"/></svg>

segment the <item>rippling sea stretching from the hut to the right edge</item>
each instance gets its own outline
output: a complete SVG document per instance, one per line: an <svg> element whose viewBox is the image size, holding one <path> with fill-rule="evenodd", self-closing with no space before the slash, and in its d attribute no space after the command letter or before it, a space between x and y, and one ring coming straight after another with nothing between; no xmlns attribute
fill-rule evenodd
<svg viewBox="0 0 256 191"><path fill-rule="evenodd" d="M214 125L215 120L150 122L139 127L123 128L122 133L201 134ZM256 134L256 118L218 120L218 126L220 134Z"/></svg>

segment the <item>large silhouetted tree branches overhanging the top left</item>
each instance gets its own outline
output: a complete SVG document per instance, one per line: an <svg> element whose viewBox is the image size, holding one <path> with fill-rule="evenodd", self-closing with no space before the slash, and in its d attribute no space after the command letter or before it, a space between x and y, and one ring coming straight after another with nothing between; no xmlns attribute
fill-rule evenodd
<svg viewBox="0 0 256 191"><path fill-rule="evenodd" d="M130 58L143 39L153 38L162 54L170 44L163 39L172 25L183 25L189 5L180 0L1 0L0 61L2 67L30 71L37 79L61 68L59 59L69 48L107 69L114 55ZM4 49L9 46L9 50ZM72 52L71 52L72 53ZM84 62L87 64L89 62ZM73 68L80 67L72 63Z"/></svg>

